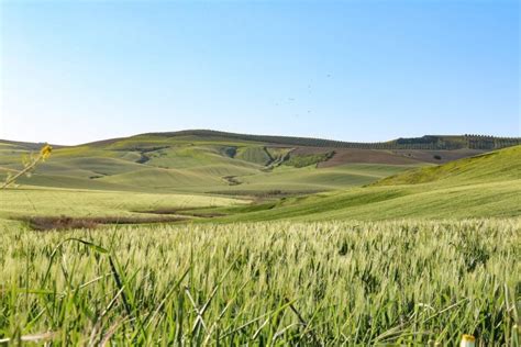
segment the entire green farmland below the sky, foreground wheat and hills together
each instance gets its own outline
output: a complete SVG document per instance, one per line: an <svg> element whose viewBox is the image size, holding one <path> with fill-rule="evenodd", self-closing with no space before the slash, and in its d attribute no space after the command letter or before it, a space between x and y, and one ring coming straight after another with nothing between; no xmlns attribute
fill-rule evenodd
<svg viewBox="0 0 521 347"><path fill-rule="evenodd" d="M1 178L37 148L0 143ZM57 147L0 190L0 343L517 346L520 172L521 146Z"/></svg>

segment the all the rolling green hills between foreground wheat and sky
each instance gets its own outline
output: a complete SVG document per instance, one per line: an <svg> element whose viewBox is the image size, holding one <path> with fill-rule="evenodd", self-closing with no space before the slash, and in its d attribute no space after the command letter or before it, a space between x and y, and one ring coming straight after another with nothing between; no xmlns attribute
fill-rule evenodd
<svg viewBox="0 0 521 347"><path fill-rule="evenodd" d="M226 223L521 215L521 146L330 145L195 131L58 146L32 177L20 179L22 189L2 192L0 219ZM21 156L38 147L0 142L0 175L20 169Z"/></svg>

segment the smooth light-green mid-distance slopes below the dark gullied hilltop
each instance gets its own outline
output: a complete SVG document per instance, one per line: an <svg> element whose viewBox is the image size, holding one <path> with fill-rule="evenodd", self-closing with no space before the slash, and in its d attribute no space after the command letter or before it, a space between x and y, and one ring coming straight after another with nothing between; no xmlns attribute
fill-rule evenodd
<svg viewBox="0 0 521 347"><path fill-rule="evenodd" d="M211 156L218 156L212 154ZM162 161L152 159L147 165L140 165L124 159L115 158L53 158L31 178L22 178L20 183L55 187L69 189L93 189L111 191L138 191L138 192L214 192L214 191L269 191L284 189L285 191L315 192L335 190L346 187L367 184L375 180L406 170L411 166L396 165L346 165L332 168L317 169L314 167L293 168L281 166L266 171L263 167L253 167L253 164L240 159L219 158L215 160L199 159L193 164L195 157L189 161L178 160L176 157L162 157ZM171 166L163 167L167 160ZM229 161L233 161L230 164ZM154 166L162 163L162 166ZM187 165L187 167L184 167ZM375 172L375 167L379 172ZM14 169L15 166L7 168ZM1 168L0 168L1 172ZM5 171L7 172L7 171ZM234 176L241 182L239 187L229 187L225 177Z"/></svg>

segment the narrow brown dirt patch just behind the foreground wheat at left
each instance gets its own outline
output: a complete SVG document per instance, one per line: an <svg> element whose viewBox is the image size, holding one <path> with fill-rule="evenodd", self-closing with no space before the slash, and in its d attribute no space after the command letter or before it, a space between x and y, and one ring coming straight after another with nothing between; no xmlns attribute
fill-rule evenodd
<svg viewBox="0 0 521 347"><path fill-rule="evenodd" d="M149 223L171 223L185 221L179 216L102 216L102 217L70 217L70 216L35 216L24 217L20 221L29 223L34 231L70 230L70 228L96 228L108 224L149 224Z"/></svg>

